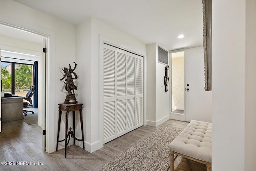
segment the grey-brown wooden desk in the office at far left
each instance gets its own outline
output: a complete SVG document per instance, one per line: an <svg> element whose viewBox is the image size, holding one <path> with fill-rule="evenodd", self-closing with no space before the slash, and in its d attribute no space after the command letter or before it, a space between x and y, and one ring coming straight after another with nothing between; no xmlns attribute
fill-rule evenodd
<svg viewBox="0 0 256 171"><path fill-rule="evenodd" d="M1 98L2 122L21 120L23 118L22 96Z"/></svg>

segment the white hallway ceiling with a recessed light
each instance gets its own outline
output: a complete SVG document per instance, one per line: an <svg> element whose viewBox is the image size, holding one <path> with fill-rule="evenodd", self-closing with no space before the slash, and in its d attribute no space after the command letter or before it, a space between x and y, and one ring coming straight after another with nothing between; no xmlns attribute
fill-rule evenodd
<svg viewBox="0 0 256 171"><path fill-rule="evenodd" d="M16 0L77 25L89 17L166 50L202 44L201 0ZM1 30L2 34L2 30ZM185 37L178 39L177 36Z"/></svg>

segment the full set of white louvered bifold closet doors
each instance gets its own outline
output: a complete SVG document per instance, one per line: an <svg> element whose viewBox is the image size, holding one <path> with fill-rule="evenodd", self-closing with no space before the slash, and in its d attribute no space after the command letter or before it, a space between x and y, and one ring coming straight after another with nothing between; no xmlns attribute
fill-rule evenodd
<svg viewBox="0 0 256 171"><path fill-rule="evenodd" d="M143 125L143 58L104 44L104 143Z"/></svg>

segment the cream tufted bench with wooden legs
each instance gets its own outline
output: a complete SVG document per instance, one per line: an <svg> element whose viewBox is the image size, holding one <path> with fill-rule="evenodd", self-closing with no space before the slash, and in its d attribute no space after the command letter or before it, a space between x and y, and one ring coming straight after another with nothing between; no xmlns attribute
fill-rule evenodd
<svg viewBox="0 0 256 171"><path fill-rule="evenodd" d="M192 120L169 145L174 171L174 154L206 165L212 170L212 123Z"/></svg>

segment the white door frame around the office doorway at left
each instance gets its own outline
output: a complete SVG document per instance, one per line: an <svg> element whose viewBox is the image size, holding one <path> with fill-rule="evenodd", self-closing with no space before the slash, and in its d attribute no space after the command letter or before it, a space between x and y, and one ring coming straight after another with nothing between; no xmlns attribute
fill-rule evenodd
<svg viewBox="0 0 256 171"><path fill-rule="evenodd" d="M34 26L25 22L21 22L6 16L1 16L0 24L30 32L33 34L39 34L47 38L48 53L46 63L46 152L52 153L55 151L55 115L50 115L50 111L55 111L55 33ZM51 73L51 75L50 75Z"/></svg>

